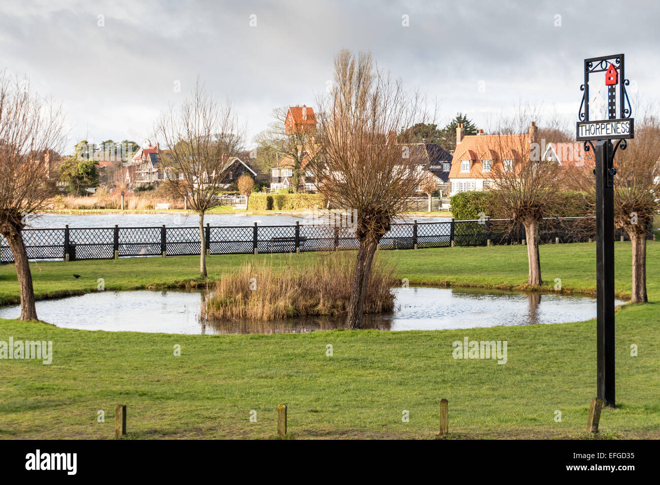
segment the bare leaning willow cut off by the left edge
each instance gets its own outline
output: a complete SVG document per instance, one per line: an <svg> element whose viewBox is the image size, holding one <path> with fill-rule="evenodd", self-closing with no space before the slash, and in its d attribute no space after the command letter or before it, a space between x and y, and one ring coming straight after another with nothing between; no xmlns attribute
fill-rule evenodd
<svg viewBox="0 0 660 485"><path fill-rule="evenodd" d="M7 239L20 288L20 319L37 320L22 232L53 196L49 152L63 146L61 106L32 92L28 79L0 72L0 234Z"/></svg>

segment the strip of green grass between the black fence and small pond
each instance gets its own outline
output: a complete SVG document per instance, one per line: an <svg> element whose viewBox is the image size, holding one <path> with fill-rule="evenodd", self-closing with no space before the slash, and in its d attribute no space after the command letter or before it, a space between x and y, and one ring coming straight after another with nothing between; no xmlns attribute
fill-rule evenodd
<svg viewBox="0 0 660 485"><path fill-rule="evenodd" d="M553 290L560 278L562 291L595 294L595 243L549 244L541 246L543 289ZM306 258L325 253L260 254L257 260L276 265L296 265ZM523 245L492 247L443 247L381 251L380 257L395 265L397 278L411 284L479 286L482 288L524 288L527 280L527 248ZM630 294L631 253L629 242L614 244L616 292ZM219 278L238 269L253 255L212 255L208 258L209 278ZM101 261L42 261L32 263L32 279L37 298L96 291L99 278L106 290L135 290L204 284L199 278L198 256L167 258L125 258ZM647 287L649 294L660 294L660 243L647 247ZM73 275L80 275L75 278ZM0 266L0 304L18 303L18 283L13 265Z"/></svg>

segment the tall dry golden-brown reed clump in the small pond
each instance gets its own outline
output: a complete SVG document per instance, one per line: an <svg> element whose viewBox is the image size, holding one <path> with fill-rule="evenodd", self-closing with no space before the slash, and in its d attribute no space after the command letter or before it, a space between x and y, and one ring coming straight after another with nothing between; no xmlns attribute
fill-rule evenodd
<svg viewBox="0 0 660 485"><path fill-rule="evenodd" d="M355 259L350 253L330 253L274 265L249 261L223 275L211 288L207 318L259 321L310 315L341 315L347 310ZM364 313L394 309L393 268L374 258Z"/></svg>

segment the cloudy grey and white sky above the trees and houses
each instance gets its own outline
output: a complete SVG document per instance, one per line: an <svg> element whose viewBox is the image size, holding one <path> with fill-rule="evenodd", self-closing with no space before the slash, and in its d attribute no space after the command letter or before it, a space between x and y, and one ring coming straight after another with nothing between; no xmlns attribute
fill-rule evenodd
<svg viewBox="0 0 660 485"><path fill-rule="evenodd" d="M519 102L568 123L585 57L625 53L632 97L660 98L658 18L650 0L3 0L0 69L63 102L69 149L152 137L198 76L234 102L251 139L276 106L314 105L341 48L372 51L437 98L441 124L460 111L487 127Z"/></svg>

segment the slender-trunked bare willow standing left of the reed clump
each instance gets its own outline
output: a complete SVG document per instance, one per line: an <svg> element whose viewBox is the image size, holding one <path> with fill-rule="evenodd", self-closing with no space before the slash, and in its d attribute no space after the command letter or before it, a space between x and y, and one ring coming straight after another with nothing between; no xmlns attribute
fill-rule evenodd
<svg viewBox="0 0 660 485"><path fill-rule="evenodd" d="M199 273L207 276L204 214L218 204L223 172L244 148L245 126L232 104L218 102L198 81L178 109L170 105L160 115L155 131L168 148L166 187L199 215Z"/></svg>

